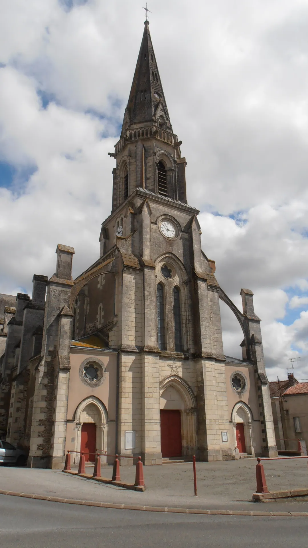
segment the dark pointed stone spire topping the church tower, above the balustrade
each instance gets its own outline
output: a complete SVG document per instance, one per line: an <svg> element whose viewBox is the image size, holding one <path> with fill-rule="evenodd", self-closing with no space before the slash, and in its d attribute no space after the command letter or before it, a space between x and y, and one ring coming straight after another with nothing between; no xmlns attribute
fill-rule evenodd
<svg viewBox="0 0 308 548"><path fill-rule="evenodd" d="M149 21L144 22L140 51L130 89L128 105L124 114L122 134L134 124L159 122L172 132L166 99L152 45Z"/></svg>

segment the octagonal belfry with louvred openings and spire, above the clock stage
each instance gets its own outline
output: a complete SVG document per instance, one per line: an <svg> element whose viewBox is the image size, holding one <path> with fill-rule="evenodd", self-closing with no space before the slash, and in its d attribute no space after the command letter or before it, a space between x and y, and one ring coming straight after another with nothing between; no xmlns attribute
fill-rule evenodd
<svg viewBox="0 0 308 548"><path fill-rule="evenodd" d="M166 99L145 21L140 51L130 89L113 169L112 212L136 188L186 202L185 158L173 133Z"/></svg>

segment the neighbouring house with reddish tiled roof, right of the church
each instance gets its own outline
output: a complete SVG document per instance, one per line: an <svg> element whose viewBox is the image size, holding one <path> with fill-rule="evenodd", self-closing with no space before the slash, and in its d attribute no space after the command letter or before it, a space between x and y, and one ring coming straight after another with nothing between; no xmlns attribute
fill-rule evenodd
<svg viewBox="0 0 308 548"><path fill-rule="evenodd" d="M308 446L308 383L288 380L270 383L272 413L278 452L301 452ZM305 443L303 443L305 442Z"/></svg>

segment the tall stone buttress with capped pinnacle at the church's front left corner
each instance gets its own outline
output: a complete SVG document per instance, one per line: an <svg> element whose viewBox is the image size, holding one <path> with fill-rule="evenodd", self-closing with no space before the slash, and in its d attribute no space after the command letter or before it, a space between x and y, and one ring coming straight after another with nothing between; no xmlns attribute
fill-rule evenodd
<svg viewBox="0 0 308 548"><path fill-rule="evenodd" d="M75 253L73 248L58 244L56 272L50 278L47 287L42 359L36 370L33 396L28 458L28 464L31 467L62 466L70 367L72 314L68 307L73 286L71 276L73 253Z"/></svg>

